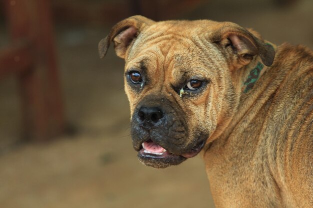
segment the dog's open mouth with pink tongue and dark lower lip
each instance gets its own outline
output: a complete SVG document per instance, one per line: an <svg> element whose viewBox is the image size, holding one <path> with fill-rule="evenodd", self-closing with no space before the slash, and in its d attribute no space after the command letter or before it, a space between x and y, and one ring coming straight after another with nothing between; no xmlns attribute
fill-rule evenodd
<svg viewBox="0 0 313 208"><path fill-rule="evenodd" d="M187 158L197 155L204 145L204 141L195 145L191 151L180 155L172 154L152 140L145 141L141 144L138 152L139 160L147 166L154 168L166 168L171 165L178 165Z"/></svg>

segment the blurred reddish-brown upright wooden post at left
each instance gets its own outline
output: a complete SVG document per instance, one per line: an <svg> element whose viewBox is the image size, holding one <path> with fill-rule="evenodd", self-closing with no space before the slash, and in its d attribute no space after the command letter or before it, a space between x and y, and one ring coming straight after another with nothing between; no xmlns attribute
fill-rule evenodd
<svg viewBox="0 0 313 208"><path fill-rule="evenodd" d="M32 65L18 74L23 136L45 141L64 131L64 114L56 68L48 0L4 0L12 44L27 42ZM21 59L18 57L16 59Z"/></svg>

